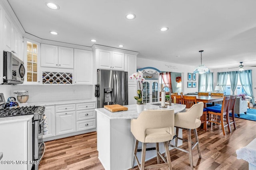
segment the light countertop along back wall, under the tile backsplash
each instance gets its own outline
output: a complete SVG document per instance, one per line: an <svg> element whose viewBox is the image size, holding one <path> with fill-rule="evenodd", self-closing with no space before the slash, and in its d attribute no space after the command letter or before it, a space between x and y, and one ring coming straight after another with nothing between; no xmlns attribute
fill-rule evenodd
<svg viewBox="0 0 256 170"><path fill-rule="evenodd" d="M62 101L52 101L52 102L28 102L26 106L53 106L53 105L64 105L64 104L76 104L76 103L88 103L96 102L96 100L62 100ZM22 106L22 104L20 104Z"/></svg>

